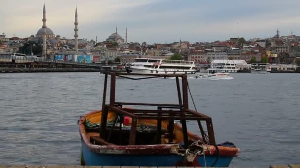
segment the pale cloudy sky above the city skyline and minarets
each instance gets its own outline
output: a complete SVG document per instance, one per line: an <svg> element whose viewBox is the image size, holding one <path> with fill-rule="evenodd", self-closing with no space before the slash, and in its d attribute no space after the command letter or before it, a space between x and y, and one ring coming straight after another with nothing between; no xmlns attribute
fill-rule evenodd
<svg viewBox="0 0 300 168"><path fill-rule="evenodd" d="M74 38L75 7L79 39L104 41L115 32L128 42L213 42L231 37L300 35L300 0L44 0L47 27ZM0 33L36 35L43 0L0 0Z"/></svg>

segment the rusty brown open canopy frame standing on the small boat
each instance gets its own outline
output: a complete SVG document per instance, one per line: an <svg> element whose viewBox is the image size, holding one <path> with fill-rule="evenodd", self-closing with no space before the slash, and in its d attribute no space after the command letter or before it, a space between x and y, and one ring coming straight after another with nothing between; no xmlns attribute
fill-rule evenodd
<svg viewBox="0 0 300 168"><path fill-rule="evenodd" d="M187 130L187 120L196 120L201 132L202 140L204 143L216 145L213 123L211 117L188 109L188 78L186 74L137 74L137 73L123 73L123 72L105 72L104 79L104 89L103 89L103 99L102 99L102 113L101 113L101 125L100 125L100 137L107 142L110 139L111 133L114 129L116 123L116 118L112 128L107 129L107 119L108 113L116 112L117 116L129 116L132 118L129 144L135 145L136 132L137 132L137 122L138 119L154 119L157 120L157 134L161 135L161 122L163 120L168 120L168 130L169 133L169 143L173 142L173 131L174 131L174 120L180 120L183 130L184 147L188 147L188 130ZM107 85L108 85L108 75L111 76L111 86L110 86L110 103L106 104L107 95ZM132 78L131 76L143 76L140 78ZM115 102L115 81L116 77L131 79L131 80L142 80L150 78L176 78L176 86L178 93L179 104L157 104L157 103L128 103L128 102ZM182 78L182 96L180 89L179 78ZM135 105L135 106L157 106L157 110L142 110L142 109L128 109L122 108L123 105ZM169 109L169 110L163 110ZM171 109L171 110L170 110ZM174 109L174 110L173 110ZM176 110L178 109L178 110ZM201 121L206 122L207 133L206 135ZM122 121L120 121L122 122ZM119 130L121 130L122 123L119 124ZM121 136L120 136L121 137ZM157 143L160 143L160 136L157 136ZM208 138L208 140L207 140Z"/></svg>

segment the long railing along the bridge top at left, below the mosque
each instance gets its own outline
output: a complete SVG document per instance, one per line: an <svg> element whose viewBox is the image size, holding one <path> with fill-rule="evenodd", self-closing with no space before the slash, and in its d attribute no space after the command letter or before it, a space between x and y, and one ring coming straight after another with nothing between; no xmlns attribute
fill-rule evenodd
<svg viewBox="0 0 300 168"><path fill-rule="evenodd" d="M34 62L62 63L62 64L94 66L94 67L100 67L101 66L101 64L95 64L95 63L84 63L84 62L73 62L73 61L65 61L65 60L54 60L54 59L45 59L45 58L38 58L38 57L32 57L32 56L2 56L2 55L0 55L0 59L23 60L23 61L34 61Z"/></svg>

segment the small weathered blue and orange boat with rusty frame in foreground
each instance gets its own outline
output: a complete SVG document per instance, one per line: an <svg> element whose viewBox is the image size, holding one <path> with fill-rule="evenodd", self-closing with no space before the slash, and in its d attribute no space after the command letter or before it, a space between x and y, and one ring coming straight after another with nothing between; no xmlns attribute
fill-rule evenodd
<svg viewBox="0 0 300 168"><path fill-rule="evenodd" d="M111 75L110 104L106 104L108 75ZM78 120L84 165L228 167L238 155L239 149L232 143L216 144L209 116L188 110L187 75L143 74L150 77L141 78L176 77L179 104L115 102L116 76L132 79L124 73L105 73L102 110L80 116ZM150 106L155 110L123 105ZM201 137L188 132L187 120L197 121ZM206 122L207 134L201 121Z"/></svg>

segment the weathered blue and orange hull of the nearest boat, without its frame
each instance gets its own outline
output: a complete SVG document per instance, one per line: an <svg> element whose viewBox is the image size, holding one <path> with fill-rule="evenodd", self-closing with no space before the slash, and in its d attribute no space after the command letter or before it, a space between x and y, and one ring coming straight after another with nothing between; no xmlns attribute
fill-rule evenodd
<svg viewBox="0 0 300 168"><path fill-rule="evenodd" d="M81 116L78 120L79 134L81 137L82 163L87 166L197 166L197 167L228 167L232 158L237 156L239 149L224 145L203 144L204 152L200 154L180 152L182 140L182 127L174 123L174 142L152 145L98 145L90 141L91 136L99 136L99 132L87 132L84 121L88 119L92 123L99 121L101 111L90 112ZM108 120L115 117L114 112L109 112ZM153 120L139 120L144 124L150 124ZM156 123L157 124L157 123ZM162 121L162 128L167 127L167 121ZM195 134L188 132L188 138L200 140ZM166 138L167 139L167 138ZM177 142L180 140L180 142ZM204 154L204 155L203 155ZM189 161L187 162L187 158ZM205 162L206 161L206 162Z"/></svg>

